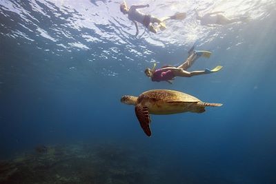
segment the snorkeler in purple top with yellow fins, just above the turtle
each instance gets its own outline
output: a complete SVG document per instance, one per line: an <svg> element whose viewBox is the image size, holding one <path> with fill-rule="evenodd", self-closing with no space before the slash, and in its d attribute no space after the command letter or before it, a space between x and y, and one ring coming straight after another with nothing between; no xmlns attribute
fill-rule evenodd
<svg viewBox="0 0 276 184"><path fill-rule="evenodd" d="M213 68L213 70L209 70L208 68L206 68L205 70L200 70L200 71L193 71L193 72L188 72L186 71L188 68L190 68L191 65L193 65L193 63L195 63L195 61L199 58L199 57L206 57L209 58L211 52L202 50L202 51L197 51L194 50L194 46L193 48L191 48L188 51L188 59L186 59L186 61L179 65L178 67L174 67L174 66L165 66L163 68L160 69L155 69L156 64L153 66L152 69L147 68L145 70L145 74L146 76L150 77L152 81L167 81L168 83L172 83L172 80L175 79L175 76L186 76L186 77L190 77L190 76L195 76L195 75L201 75L201 74L211 74L213 72L217 72L219 70L221 70L222 66L218 65L217 67Z"/></svg>

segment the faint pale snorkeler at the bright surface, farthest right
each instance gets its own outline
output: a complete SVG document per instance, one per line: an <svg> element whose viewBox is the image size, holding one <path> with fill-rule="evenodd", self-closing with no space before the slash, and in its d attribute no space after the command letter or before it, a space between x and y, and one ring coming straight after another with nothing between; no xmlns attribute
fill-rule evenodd
<svg viewBox="0 0 276 184"><path fill-rule="evenodd" d="M197 10L195 10L197 20L200 21L201 25L211 25L211 24L226 25L228 23L234 23L239 21L243 22L248 20L248 17L228 19L221 13L223 12L210 12L210 13L204 14L203 16L199 16L199 13L197 12Z"/></svg>

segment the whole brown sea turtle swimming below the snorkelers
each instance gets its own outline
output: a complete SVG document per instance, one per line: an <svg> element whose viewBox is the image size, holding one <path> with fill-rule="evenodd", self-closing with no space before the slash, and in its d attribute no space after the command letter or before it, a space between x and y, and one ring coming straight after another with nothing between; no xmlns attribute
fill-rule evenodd
<svg viewBox="0 0 276 184"><path fill-rule="evenodd" d="M149 90L137 96L122 96L121 102L135 105L135 114L147 136L150 131L150 114L176 114L182 112L205 112L206 106L221 106L221 103L202 102L195 96L175 90Z"/></svg>

